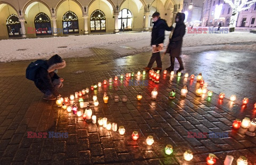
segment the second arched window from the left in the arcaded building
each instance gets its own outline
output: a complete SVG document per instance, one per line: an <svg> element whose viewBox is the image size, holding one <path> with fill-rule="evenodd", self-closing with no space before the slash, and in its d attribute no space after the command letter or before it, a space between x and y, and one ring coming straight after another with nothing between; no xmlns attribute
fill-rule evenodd
<svg viewBox="0 0 256 165"><path fill-rule="evenodd" d="M38 13L35 17L36 35L51 35L51 21L45 13Z"/></svg>

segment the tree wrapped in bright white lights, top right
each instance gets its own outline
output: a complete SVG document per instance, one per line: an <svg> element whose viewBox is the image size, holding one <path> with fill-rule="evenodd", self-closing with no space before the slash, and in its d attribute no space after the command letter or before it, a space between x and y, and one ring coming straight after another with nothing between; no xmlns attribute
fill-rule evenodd
<svg viewBox="0 0 256 165"><path fill-rule="evenodd" d="M232 9L232 15L229 23L229 31L232 32L235 31L238 13L249 9L256 0L224 0L224 2L228 3Z"/></svg>

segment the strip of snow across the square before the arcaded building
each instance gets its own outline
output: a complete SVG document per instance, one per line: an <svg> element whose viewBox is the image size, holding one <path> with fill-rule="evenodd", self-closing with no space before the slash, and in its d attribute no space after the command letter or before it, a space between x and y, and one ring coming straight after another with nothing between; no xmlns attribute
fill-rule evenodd
<svg viewBox="0 0 256 165"><path fill-rule="evenodd" d="M170 32L166 32L165 45ZM237 30L228 34L186 34L183 51L246 50L256 51L256 34ZM106 35L82 35L49 38L0 40L0 62L47 59L53 54L63 57L90 56L90 47L108 48L121 55L150 51L151 32ZM206 45L206 46L205 46Z"/></svg>

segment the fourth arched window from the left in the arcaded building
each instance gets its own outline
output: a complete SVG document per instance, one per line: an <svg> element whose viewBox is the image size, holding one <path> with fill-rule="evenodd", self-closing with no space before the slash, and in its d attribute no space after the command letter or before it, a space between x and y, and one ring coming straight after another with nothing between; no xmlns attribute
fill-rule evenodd
<svg viewBox="0 0 256 165"><path fill-rule="evenodd" d="M106 17L101 10L92 12L91 19L91 32L105 32L106 31Z"/></svg>

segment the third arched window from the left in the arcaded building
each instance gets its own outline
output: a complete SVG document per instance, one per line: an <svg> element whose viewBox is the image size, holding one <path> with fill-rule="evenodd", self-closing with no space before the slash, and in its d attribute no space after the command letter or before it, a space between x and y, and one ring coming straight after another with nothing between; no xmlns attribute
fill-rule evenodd
<svg viewBox="0 0 256 165"><path fill-rule="evenodd" d="M68 11L62 18L63 33L79 33L78 18L75 13Z"/></svg>

